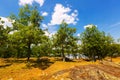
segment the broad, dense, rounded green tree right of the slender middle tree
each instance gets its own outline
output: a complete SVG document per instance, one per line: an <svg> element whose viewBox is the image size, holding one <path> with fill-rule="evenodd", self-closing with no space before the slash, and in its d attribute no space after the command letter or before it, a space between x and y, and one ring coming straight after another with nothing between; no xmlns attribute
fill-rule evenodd
<svg viewBox="0 0 120 80"><path fill-rule="evenodd" d="M99 31L95 25L90 26L81 34L82 51L93 61L96 61L96 57L101 60L107 55L106 50L113 39Z"/></svg>

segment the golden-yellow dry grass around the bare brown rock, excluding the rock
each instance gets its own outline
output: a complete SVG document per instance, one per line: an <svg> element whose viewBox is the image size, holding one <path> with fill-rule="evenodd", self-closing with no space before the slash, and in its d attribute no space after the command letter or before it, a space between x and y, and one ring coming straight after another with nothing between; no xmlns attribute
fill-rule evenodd
<svg viewBox="0 0 120 80"><path fill-rule="evenodd" d="M99 61L87 62L84 60L76 60L74 62L62 62L59 60L57 61L55 58L46 59L47 58L43 58L42 62L36 62L36 59L32 58L28 64L25 58L0 58L0 80L40 80L41 76L47 76L54 72L69 69L74 66L99 64ZM119 64L120 57L113 58L113 62Z"/></svg>

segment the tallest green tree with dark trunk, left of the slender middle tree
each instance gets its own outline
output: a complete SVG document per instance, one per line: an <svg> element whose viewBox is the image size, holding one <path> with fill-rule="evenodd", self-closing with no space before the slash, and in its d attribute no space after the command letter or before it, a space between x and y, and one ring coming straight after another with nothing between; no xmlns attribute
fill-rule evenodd
<svg viewBox="0 0 120 80"><path fill-rule="evenodd" d="M40 29L43 17L40 16L37 7L25 5L20 8L18 17L12 15L10 18L15 20L13 31L16 31L10 37L27 49L27 60L29 61L32 54L31 45L42 43L42 39L45 37L44 32Z"/></svg>

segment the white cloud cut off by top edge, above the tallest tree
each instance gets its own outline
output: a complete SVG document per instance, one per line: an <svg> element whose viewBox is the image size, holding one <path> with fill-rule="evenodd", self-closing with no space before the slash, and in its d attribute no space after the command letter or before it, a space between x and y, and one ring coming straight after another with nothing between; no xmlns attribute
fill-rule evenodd
<svg viewBox="0 0 120 80"><path fill-rule="evenodd" d="M30 4L32 5L33 2L36 2L41 6L43 6L45 0L19 0L19 5L23 6L25 4Z"/></svg>

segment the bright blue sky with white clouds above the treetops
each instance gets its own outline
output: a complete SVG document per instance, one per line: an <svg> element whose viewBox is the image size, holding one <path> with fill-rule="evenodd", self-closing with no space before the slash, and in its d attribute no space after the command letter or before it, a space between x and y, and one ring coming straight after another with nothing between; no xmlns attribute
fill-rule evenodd
<svg viewBox="0 0 120 80"><path fill-rule="evenodd" d="M37 5L44 20L41 28L48 28L54 34L64 20L77 29L75 35L94 24L99 30L110 33L114 39L120 38L120 0L1 0L0 16L6 19L11 13L18 15L25 4Z"/></svg>

